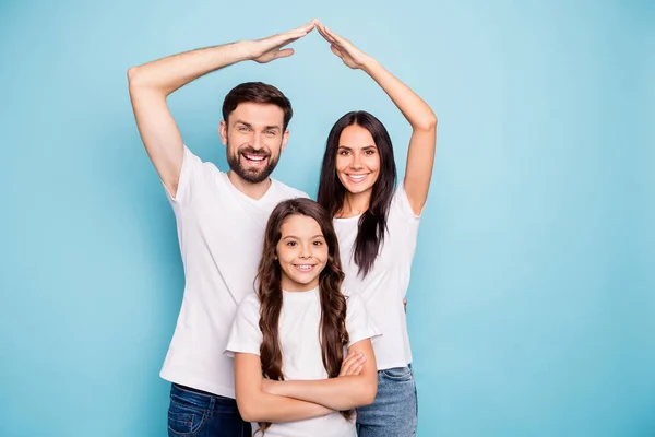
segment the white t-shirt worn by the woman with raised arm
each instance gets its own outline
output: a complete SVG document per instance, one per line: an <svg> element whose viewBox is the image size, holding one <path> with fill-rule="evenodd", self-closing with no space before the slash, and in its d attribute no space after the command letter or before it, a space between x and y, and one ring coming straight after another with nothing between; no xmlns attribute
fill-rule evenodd
<svg viewBox="0 0 655 437"><path fill-rule="evenodd" d="M412 363L412 350L403 298L409 286L420 216L412 211L401 184L391 200L384 243L373 268L364 279L358 275L359 268L354 260L360 217L334 218L342 267L346 274L344 287L364 299L369 317L384 333L372 340L378 369L404 367Z"/></svg>

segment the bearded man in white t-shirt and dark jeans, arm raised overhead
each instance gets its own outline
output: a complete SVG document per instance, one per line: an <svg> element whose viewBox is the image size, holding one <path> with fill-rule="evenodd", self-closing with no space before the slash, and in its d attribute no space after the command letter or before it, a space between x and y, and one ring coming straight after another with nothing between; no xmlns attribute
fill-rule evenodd
<svg viewBox="0 0 655 437"><path fill-rule="evenodd" d="M282 200L307 197L270 178L288 140L293 111L277 88L238 85L226 96L222 142L230 170L202 163L182 142L166 97L212 71L245 60L265 63L314 28L312 21L260 40L188 51L128 71L146 152L176 214L186 287L160 376L172 382L170 436L249 436L237 410L233 359L223 354L237 305L253 291L266 220ZM279 398L279 417L317 415L315 404Z"/></svg>

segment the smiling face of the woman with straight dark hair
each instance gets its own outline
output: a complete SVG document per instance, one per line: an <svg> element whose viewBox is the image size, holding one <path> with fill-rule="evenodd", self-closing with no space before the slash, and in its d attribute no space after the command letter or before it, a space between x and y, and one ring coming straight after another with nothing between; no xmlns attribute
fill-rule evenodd
<svg viewBox="0 0 655 437"><path fill-rule="evenodd" d="M372 191L380 175L380 154L371 132L359 125L346 127L338 139L336 175L352 194Z"/></svg>

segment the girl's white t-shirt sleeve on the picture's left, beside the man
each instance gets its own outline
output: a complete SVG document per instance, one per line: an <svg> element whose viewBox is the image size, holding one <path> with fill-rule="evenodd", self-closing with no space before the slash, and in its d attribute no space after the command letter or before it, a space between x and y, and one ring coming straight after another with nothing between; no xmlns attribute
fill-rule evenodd
<svg viewBox="0 0 655 437"><path fill-rule="evenodd" d="M262 331L259 328L259 300L257 295L251 294L241 300L237 309L225 347L225 355L234 357L237 352L260 354Z"/></svg>

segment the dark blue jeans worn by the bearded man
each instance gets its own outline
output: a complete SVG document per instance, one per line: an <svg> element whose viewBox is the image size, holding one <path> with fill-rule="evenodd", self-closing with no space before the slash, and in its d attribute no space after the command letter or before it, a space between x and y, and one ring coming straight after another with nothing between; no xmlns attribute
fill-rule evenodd
<svg viewBox="0 0 655 437"><path fill-rule="evenodd" d="M174 383L168 408L169 437L250 437L237 401Z"/></svg>

